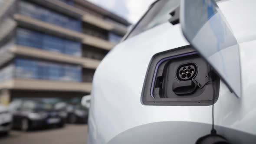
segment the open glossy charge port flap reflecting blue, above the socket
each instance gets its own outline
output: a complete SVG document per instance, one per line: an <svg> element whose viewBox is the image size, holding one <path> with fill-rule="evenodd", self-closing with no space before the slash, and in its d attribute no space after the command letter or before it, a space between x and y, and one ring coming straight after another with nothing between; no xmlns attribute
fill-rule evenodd
<svg viewBox="0 0 256 144"><path fill-rule="evenodd" d="M180 19L187 40L232 92L241 97L239 45L216 3L213 0L181 0Z"/></svg>

